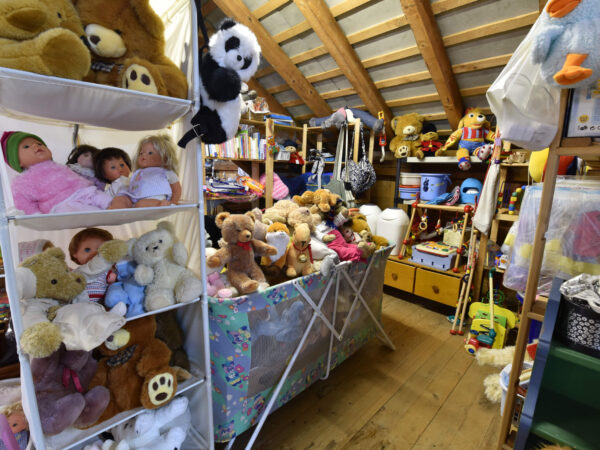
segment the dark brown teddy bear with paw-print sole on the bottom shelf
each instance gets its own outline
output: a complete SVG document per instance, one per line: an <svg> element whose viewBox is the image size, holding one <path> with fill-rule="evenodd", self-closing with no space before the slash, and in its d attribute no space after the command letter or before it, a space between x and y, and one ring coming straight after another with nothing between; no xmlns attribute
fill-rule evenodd
<svg viewBox="0 0 600 450"><path fill-rule="evenodd" d="M110 401L98 422L138 406L155 409L177 392L177 372L169 366L171 350L156 334L156 318L131 320L97 349L101 355L90 387L105 386Z"/></svg>

